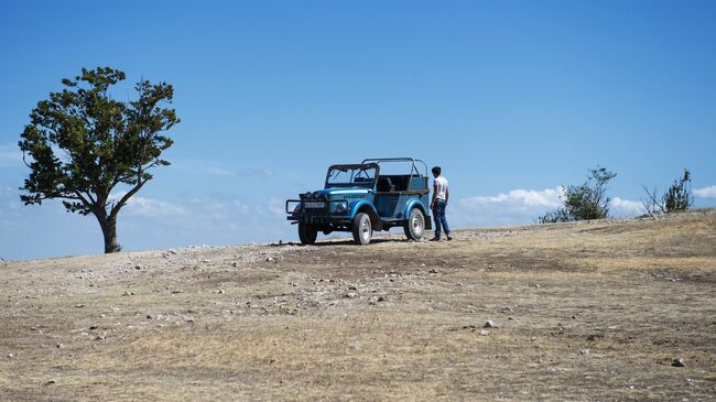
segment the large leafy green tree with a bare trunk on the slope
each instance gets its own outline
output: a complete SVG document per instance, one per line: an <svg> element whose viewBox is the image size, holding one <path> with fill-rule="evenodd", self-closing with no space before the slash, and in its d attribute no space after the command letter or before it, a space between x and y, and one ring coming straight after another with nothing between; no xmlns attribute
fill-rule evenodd
<svg viewBox="0 0 716 402"><path fill-rule="evenodd" d="M83 68L65 88L50 93L30 113L19 142L31 172L20 199L25 205L58 198L67 211L93 214L105 237L105 252L119 251L117 215L137 192L152 180L149 171L170 163L162 151L173 141L162 135L180 122L171 104L174 88L140 80L139 98L118 101L109 88L124 79L110 67ZM117 186L124 191L110 197Z"/></svg>

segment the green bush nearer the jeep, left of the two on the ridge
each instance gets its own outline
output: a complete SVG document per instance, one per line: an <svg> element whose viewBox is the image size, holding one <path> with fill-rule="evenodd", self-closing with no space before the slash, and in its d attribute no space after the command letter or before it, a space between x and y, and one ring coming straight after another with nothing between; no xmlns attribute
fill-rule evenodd
<svg viewBox="0 0 716 402"><path fill-rule="evenodd" d="M605 196L607 183L617 174L606 167L589 170L587 181L578 186L565 187L561 197L563 207L538 218L540 224L603 219L609 216L609 198Z"/></svg>

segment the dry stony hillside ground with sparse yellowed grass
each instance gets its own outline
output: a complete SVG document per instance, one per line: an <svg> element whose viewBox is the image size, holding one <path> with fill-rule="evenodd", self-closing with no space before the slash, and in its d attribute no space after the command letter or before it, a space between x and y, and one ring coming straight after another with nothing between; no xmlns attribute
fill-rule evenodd
<svg viewBox="0 0 716 402"><path fill-rule="evenodd" d="M716 210L0 262L0 306L2 401L713 401Z"/></svg>

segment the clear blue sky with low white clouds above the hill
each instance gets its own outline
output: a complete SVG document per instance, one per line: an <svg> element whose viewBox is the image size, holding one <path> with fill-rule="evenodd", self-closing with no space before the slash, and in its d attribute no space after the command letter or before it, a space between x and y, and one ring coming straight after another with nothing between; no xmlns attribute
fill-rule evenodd
<svg viewBox="0 0 716 402"><path fill-rule="evenodd" d="M0 258L100 253L91 217L23 206L17 148L82 67L175 87L170 167L127 250L293 240L283 200L330 163L443 166L456 227L531 224L600 164L617 216L693 173L716 206L714 1L23 1L0 6Z"/></svg>

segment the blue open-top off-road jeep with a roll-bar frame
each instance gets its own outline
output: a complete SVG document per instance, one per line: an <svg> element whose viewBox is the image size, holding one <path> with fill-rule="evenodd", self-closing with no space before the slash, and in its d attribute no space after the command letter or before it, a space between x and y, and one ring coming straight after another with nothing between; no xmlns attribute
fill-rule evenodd
<svg viewBox="0 0 716 402"><path fill-rule="evenodd" d="M392 174L395 166L403 169L402 174ZM390 174L383 174L381 167ZM393 227L402 227L409 239L420 240L425 229L432 228L428 194L425 162L369 159L328 167L324 189L286 200L286 214L293 225L299 225L303 245L315 243L319 231L349 231L357 245L366 246L373 230Z"/></svg>

